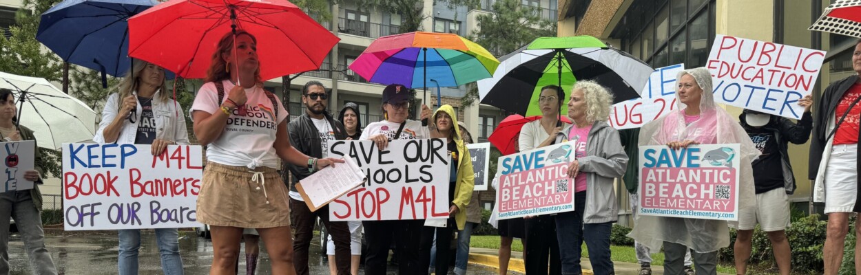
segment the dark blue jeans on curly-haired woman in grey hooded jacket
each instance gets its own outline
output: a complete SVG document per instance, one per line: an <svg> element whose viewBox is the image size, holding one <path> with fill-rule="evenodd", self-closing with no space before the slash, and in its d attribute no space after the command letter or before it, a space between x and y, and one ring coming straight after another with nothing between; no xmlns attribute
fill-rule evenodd
<svg viewBox="0 0 861 275"><path fill-rule="evenodd" d="M586 242L589 260L596 275L613 274L610 260L610 229L612 222L583 223L586 193L574 194L574 211L556 215L556 236L559 239L559 254L562 274L582 274L580 267L581 245Z"/></svg>

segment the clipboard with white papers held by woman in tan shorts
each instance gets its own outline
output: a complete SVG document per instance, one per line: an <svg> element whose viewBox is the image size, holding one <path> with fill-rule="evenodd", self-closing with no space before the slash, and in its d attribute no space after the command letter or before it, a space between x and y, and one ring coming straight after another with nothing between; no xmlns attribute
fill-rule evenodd
<svg viewBox="0 0 861 275"><path fill-rule="evenodd" d="M351 157L343 160L344 163L323 168L296 183L296 190L309 210L317 211L368 181L368 177Z"/></svg>

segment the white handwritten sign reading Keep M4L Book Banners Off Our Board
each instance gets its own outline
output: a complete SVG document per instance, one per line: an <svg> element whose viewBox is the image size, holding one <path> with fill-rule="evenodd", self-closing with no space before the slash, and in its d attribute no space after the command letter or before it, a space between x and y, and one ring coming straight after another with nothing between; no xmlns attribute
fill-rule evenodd
<svg viewBox="0 0 861 275"><path fill-rule="evenodd" d="M201 147L63 144L66 230L196 227Z"/></svg>

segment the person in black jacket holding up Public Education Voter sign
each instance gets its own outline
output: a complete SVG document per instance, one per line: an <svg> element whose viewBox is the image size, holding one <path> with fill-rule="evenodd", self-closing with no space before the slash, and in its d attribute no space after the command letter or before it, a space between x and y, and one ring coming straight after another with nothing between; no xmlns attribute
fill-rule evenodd
<svg viewBox="0 0 861 275"><path fill-rule="evenodd" d="M790 224L790 198L796 191L796 179L792 174L789 143L804 144L813 130L813 117L810 106L813 98L805 96L798 101L804 107L802 119L790 119L768 113L745 110L739 120L747 131L753 144L762 153L753 161L753 186L756 189L756 206L740 210L739 221L734 224L738 229L735 239L735 270L745 274L747 260L751 256L753 229L759 223L771 241L774 258L781 275L789 275L790 242L786 240L786 226Z"/></svg>

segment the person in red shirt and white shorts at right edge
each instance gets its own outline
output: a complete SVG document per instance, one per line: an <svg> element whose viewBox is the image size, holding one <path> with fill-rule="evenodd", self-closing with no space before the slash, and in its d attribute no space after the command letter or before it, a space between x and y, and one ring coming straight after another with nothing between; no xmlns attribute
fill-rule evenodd
<svg viewBox="0 0 861 275"><path fill-rule="evenodd" d="M849 217L861 212L858 200L858 135L861 121L861 40L852 50L849 76L828 85L822 93L814 115L813 138L810 140L810 180L815 180L814 202L825 203L828 215L827 236L822 251L825 274L837 274L843 261L843 242L849 231ZM855 223L855 235L861 238L861 226ZM861 257L855 254L855 266Z"/></svg>

